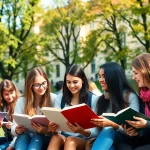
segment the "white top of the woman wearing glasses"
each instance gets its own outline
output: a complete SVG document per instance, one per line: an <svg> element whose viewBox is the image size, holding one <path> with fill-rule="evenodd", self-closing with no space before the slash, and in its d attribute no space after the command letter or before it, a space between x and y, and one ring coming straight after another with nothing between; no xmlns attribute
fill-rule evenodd
<svg viewBox="0 0 150 150"><path fill-rule="evenodd" d="M54 94L54 93L50 93L50 94L51 94L52 107L53 107L57 95ZM25 97L20 97L20 98L17 100L16 106L15 106L15 109L14 109L14 113L17 113L17 114L25 114L25 113L24 113L25 101L26 101ZM41 115L40 108L37 108L36 114L37 114L37 115ZM12 133L12 135L14 135L14 136L17 136L17 134L16 134L16 132L15 132L16 126L17 126L17 123L13 120L13 124L12 124L12 126L11 126L11 133Z"/></svg>

